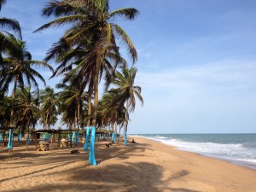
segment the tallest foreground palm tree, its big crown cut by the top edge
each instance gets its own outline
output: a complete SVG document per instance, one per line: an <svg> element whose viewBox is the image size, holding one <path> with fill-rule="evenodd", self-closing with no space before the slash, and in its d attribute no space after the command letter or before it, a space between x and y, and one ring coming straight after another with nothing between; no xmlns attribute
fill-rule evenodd
<svg viewBox="0 0 256 192"><path fill-rule="evenodd" d="M54 15L57 19L50 21L38 28L38 31L51 26L61 26L71 23L73 26L67 30L63 38L69 47L85 44L88 54L81 63L82 72L90 74L92 87L94 88L94 108L92 115L92 127L96 129L96 115L98 108L98 82L100 78L101 64L108 55L109 48L119 53L116 38L126 45L133 62L137 61L137 51L131 43L126 32L117 24L113 23L116 16L127 20L133 20L138 15L137 9L127 8L109 11L108 0L63 0L49 1L43 10L44 16ZM89 73L93 72L93 73ZM83 78L83 77L81 77ZM89 91L90 92L90 91ZM94 143L92 143L94 144ZM92 146L93 150L93 146ZM94 153L94 152L92 152ZM93 154L94 156L94 154ZM96 161L92 164L96 164Z"/></svg>

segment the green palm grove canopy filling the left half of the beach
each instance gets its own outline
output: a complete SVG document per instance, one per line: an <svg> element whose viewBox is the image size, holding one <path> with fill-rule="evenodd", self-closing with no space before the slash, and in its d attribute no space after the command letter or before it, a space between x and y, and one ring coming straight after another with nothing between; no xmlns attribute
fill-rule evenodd
<svg viewBox="0 0 256 192"><path fill-rule="evenodd" d="M0 0L0 10L6 1ZM46 53L44 61L32 60L22 41L17 20L0 19L0 126L15 126L29 131L41 124L44 129L55 126L58 116L68 129L93 126L101 130L127 131L129 113L138 100L143 103L141 88L134 85L137 68L127 67L119 52L125 45L132 64L137 51L116 17L134 20L137 9L109 11L108 0L50 0L43 9L45 17L55 20L35 32L68 24L69 28ZM5 30L5 31L4 31ZM48 64L55 61L55 70ZM38 79L44 77L35 68L44 67L61 83L39 90ZM99 99L99 82L106 90ZM111 89L108 89L111 88ZM12 94L9 94L12 90Z"/></svg>

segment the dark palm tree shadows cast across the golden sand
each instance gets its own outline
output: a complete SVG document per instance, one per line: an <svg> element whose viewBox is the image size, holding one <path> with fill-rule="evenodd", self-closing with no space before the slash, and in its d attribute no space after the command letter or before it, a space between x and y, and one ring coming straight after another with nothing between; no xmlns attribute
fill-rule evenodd
<svg viewBox="0 0 256 192"><path fill-rule="evenodd" d="M125 161L134 156L144 156L143 151L150 149L149 144L137 143L135 145L121 146L113 145L105 148L104 143L96 143L96 160L98 166L88 164L88 151L81 149L79 154L70 154L67 149L55 151L44 157L38 155L38 162L35 157L30 156L27 160L13 160L8 162L15 168L26 169L30 166L45 166L45 169L34 169L20 175L5 177L0 183L14 182L29 177L34 183L19 189L8 190L9 192L33 192L33 191L145 191L145 192L199 192L185 188L168 188L170 183L183 179L189 175L189 171L180 170L172 173L163 179L164 166L149 162ZM80 146L81 147L81 146ZM133 153L133 152L139 153ZM104 152L104 153L103 153ZM17 153L19 154L19 153ZM26 153L28 155L32 155ZM42 157L42 158L41 158ZM123 164L108 164L109 159L119 159ZM117 161L118 162L118 161ZM104 164L103 164L104 163ZM48 166L49 165L49 166ZM0 165L1 166L1 165ZM4 165L3 165L4 166ZM62 166L65 166L63 169ZM2 168L2 167L1 167ZM11 170L15 170L11 168ZM3 167L4 169L4 167ZM7 168L8 170L8 168ZM44 181L40 177L47 178ZM1 189L0 189L1 190Z"/></svg>

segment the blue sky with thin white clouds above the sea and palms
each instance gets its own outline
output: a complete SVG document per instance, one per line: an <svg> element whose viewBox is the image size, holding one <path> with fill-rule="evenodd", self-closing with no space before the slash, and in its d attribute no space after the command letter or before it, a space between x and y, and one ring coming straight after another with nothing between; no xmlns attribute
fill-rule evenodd
<svg viewBox="0 0 256 192"><path fill-rule="evenodd" d="M37 60L67 29L32 33L54 19L41 16L45 3L7 0L0 12L0 17L19 20L27 49ZM114 20L139 55L135 85L142 87L144 104L137 101L128 133L256 132L256 1L109 3L110 10L132 7L140 12L136 20ZM41 73L49 79L49 72ZM54 87L59 80L47 85Z"/></svg>

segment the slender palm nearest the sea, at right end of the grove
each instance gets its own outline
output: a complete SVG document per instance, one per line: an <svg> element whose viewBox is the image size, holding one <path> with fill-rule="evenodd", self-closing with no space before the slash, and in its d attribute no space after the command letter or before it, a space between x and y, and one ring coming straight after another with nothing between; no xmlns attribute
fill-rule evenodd
<svg viewBox="0 0 256 192"><path fill-rule="evenodd" d="M113 88L110 91L117 92L119 99L126 103L125 135L128 127L129 112L133 112L136 106L135 96L137 96L138 100L142 102L143 105L143 96L141 96L142 88L134 85L136 74L136 67L129 69L123 66L121 67L121 72L117 72L111 82L111 84L117 86L117 88Z"/></svg>

